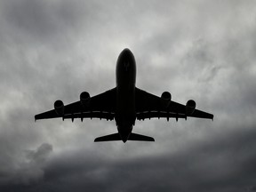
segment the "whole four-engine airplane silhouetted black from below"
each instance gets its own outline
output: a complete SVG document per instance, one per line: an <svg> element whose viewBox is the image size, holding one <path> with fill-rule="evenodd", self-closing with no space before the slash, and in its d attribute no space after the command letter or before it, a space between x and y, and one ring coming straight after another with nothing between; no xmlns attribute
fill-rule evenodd
<svg viewBox="0 0 256 192"><path fill-rule="evenodd" d="M82 92L80 100L64 106L61 100L54 102L54 109L35 116L37 119L62 118L100 118L115 120L117 132L98 137L94 142L123 140L155 141L154 138L132 132L136 120L150 118L197 117L212 119L213 115L196 109L196 102L188 100L186 105L172 101L170 92L163 92L160 97L136 87L136 61L133 53L125 48L116 61L116 87L107 92L91 97L89 92Z"/></svg>

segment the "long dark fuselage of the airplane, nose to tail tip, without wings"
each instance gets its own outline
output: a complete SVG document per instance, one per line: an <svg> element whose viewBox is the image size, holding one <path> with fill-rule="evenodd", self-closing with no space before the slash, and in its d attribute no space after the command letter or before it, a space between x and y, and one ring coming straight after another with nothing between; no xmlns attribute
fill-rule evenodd
<svg viewBox="0 0 256 192"><path fill-rule="evenodd" d="M135 124L136 62L132 52L124 49L116 62L116 125L121 139L128 140Z"/></svg>

